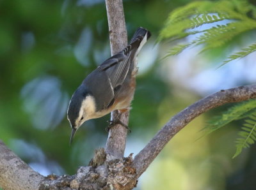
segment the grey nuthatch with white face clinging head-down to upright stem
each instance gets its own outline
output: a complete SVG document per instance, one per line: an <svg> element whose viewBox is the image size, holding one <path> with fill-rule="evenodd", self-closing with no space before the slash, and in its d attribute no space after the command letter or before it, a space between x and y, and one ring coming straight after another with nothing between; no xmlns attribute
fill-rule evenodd
<svg viewBox="0 0 256 190"><path fill-rule="evenodd" d="M68 105L67 118L72 128L70 144L85 121L113 110L125 112L130 109L136 88L138 53L150 36L150 31L139 27L127 47L84 78Z"/></svg>

